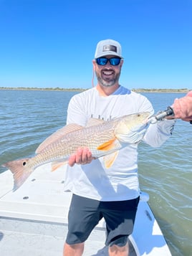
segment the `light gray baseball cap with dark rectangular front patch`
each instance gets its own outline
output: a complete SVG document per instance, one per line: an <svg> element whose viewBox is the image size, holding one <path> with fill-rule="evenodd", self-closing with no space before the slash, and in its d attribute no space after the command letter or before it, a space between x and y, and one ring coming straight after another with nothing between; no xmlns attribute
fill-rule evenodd
<svg viewBox="0 0 192 256"><path fill-rule="evenodd" d="M112 39L106 39L98 42L95 51L95 59L106 55L114 55L123 58L121 56L120 43Z"/></svg>

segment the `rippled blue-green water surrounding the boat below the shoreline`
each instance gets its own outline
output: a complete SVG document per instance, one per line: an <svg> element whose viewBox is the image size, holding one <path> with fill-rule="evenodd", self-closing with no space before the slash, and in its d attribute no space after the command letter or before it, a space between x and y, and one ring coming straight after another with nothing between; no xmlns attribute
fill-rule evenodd
<svg viewBox="0 0 192 256"><path fill-rule="evenodd" d="M76 93L0 90L0 164L33 156L39 143L66 123L67 105ZM155 111L184 95L143 94ZM191 131L192 125L178 120L173 136L163 146L139 146L140 187L150 194L150 207L173 256L192 255Z"/></svg>

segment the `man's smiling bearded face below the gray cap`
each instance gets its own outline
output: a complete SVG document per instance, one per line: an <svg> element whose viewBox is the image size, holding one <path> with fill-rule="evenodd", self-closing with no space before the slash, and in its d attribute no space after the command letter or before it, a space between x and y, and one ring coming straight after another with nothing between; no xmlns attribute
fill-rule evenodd
<svg viewBox="0 0 192 256"><path fill-rule="evenodd" d="M117 59L119 59L117 56L113 56L113 55L107 55L107 56L104 56L101 58L104 58L104 59L105 58L107 58L107 59L110 59L110 58L116 59L117 58ZM100 59L100 58L98 58L98 59ZM107 61L107 63L105 65L99 65L96 60L93 60L92 62L94 65L97 80L100 85L107 87L107 86L116 85L118 83L121 67L123 65L123 60L120 60L120 63L118 65L110 64L109 60ZM111 62L112 62L112 60L111 60ZM112 62L112 63L114 63L114 62Z"/></svg>

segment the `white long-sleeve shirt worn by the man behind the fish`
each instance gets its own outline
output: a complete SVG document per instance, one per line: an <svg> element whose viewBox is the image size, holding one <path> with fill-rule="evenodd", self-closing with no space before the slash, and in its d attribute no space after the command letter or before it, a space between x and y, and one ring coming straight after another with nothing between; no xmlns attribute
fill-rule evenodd
<svg viewBox="0 0 192 256"><path fill-rule="evenodd" d="M85 126L90 118L110 120L138 112L153 114L153 106L145 96L120 86L107 97L94 87L72 97L67 110L67 124ZM143 141L161 146L170 136L175 120L163 120L149 125ZM86 165L67 166L65 191L100 201L122 201L139 196L138 144L130 144L119 151L115 163L106 169L103 158Z"/></svg>

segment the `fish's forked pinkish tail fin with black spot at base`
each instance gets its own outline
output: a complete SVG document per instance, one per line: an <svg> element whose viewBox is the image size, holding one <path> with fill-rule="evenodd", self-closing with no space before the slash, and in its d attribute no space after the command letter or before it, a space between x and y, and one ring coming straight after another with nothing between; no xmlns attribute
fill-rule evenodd
<svg viewBox="0 0 192 256"><path fill-rule="evenodd" d="M14 176L14 188L13 191L19 189L19 187L24 184L30 174L32 174L33 169L27 166L29 158L24 158L20 160L10 161L4 163L2 166L8 168Z"/></svg>

